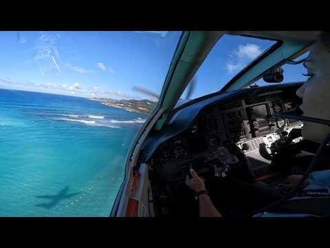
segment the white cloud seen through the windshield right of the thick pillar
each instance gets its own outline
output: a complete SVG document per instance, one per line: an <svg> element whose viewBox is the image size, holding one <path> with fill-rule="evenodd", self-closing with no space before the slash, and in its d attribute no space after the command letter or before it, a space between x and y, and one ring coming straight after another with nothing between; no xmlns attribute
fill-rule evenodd
<svg viewBox="0 0 330 248"><path fill-rule="evenodd" d="M246 45L239 45L233 54L229 54L231 59L226 63L225 69L231 73L239 72L246 65L256 59L256 57L262 52L263 50L261 50L259 45L250 43Z"/></svg>

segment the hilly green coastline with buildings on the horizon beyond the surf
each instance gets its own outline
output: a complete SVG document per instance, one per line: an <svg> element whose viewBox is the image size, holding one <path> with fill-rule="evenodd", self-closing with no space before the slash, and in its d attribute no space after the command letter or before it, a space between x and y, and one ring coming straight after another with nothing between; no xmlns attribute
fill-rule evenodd
<svg viewBox="0 0 330 248"><path fill-rule="evenodd" d="M114 100L114 99L107 99L102 97L92 97L89 100L93 101L102 101L105 105L109 105L111 107L120 107L124 110L130 111L130 112L137 112L140 114L150 114L155 110L155 107L157 106L156 101L151 100Z"/></svg>

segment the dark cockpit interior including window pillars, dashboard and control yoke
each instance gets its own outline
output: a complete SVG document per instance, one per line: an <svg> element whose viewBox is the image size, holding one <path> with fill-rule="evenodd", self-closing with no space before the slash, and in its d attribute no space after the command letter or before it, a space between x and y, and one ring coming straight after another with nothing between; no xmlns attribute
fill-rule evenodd
<svg viewBox="0 0 330 248"><path fill-rule="evenodd" d="M197 63L202 63L212 50L211 40L221 41L223 34L278 42L243 68L219 92L175 105L196 73ZM170 83L163 88L161 104L136 139L137 145L129 160L131 170L127 170L131 176L122 186L120 200L115 203L119 210L113 211L112 215L199 216L195 192L185 185L186 178L191 176L190 167L203 177L212 202L223 216L245 216L233 214L233 206L221 192L221 185L230 178L267 184L274 191L287 194L287 189L280 187L280 183L288 175L302 172L308 166L300 158L315 154L318 144L304 139L302 121L276 116L277 113L297 111L302 104L296 91L304 82L281 83L283 75L285 77L281 66L302 63L294 59L309 51L317 34L212 32L198 47L199 53L192 52L194 45L190 50L186 45L184 52L191 53L188 56L188 52L182 52L178 57L181 56L184 63L179 61L171 65ZM196 40L192 41L196 44ZM194 56L199 59L192 59ZM190 61L189 66L187 61ZM253 85L262 79L270 84Z"/></svg>

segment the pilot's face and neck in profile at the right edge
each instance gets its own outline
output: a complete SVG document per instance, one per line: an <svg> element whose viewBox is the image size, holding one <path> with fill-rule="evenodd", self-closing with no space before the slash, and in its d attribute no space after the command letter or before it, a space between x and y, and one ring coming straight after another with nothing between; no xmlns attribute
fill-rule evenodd
<svg viewBox="0 0 330 248"><path fill-rule="evenodd" d="M303 116L330 120L330 32L322 32L304 62L309 78L296 94ZM321 143L330 127L304 121L303 136Z"/></svg>

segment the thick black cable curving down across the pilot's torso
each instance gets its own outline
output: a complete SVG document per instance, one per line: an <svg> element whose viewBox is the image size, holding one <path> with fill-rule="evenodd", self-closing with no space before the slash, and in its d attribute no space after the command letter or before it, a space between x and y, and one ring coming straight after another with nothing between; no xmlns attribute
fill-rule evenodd
<svg viewBox="0 0 330 248"><path fill-rule="evenodd" d="M295 187L293 187L289 192L287 192L287 194L285 194L285 196L283 196L282 198L280 198L279 200L276 200L276 202L263 207L257 211L253 211L250 214L248 214L248 216L254 216L254 214L258 214L262 211L265 211L266 209L269 209L270 207L274 207L275 205L278 205L278 203L282 203L283 200L287 200L287 198L289 198L289 196L296 192L296 189L298 189L298 187L300 185L303 184L303 182L306 180L306 178L308 177L309 173L311 172L311 169L313 169L314 165L316 165L316 161L318 161L318 157L320 156L321 152L323 151L323 149L325 149L325 147L327 147L327 143L329 143L330 141L330 133L325 137L325 139L322 141L320 147L318 148L318 152L316 152L314 158L311 160L311 163L309 163L309 166L307 167L307 170L303 176L303 178L300 179L300 181L297 183L297 185Z"/></svg>

